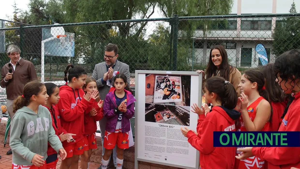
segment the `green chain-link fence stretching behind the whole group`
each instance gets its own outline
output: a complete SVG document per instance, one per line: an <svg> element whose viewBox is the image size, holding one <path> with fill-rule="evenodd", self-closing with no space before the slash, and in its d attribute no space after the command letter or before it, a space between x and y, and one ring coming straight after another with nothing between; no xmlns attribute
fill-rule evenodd
<svg viewBox="0 0 300 169"><path fill-rule="evenodd" d="M262 44L268 62L300 46L300 14L223 15L140 20L101 21L0 29L1 67L9 62L4 48L18 45L42 82L65 82L68 63L80 65L91 76L95 64L104 62L104 47L117 44L118 60L130 66L131 87L135 70L205 70L210 49L220 44L230 64L241 72L259 68L255 48ZM4 38L5 37L5 38ZM4 48L4 49L3 49ZM5 89L1 102L5 104ZM137 113L137 112L136 112ZM131 121L134 130L134 118ZM133 131L134 134L134 131Z"/></svg>

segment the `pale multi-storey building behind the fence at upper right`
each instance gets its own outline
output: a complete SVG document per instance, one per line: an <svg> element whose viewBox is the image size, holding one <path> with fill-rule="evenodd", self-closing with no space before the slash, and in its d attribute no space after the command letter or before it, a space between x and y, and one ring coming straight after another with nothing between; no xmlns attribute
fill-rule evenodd
<svg viewBox="0 0 300 169"><path fill-rule="evenodd" d="M234 0L231 14L287 14L292 2L292 0ZM300 1L295 3L296 8L299 8ZM194 63L207 65L210 49L217 44L224 46L232 66L256 68L261 65L255 51L256 44L265 46L268 62L272 63L274 62L271 53L272 33L276 23L282 19L269 17L214 20L206 32L199 26L193 37Z"/></svg>

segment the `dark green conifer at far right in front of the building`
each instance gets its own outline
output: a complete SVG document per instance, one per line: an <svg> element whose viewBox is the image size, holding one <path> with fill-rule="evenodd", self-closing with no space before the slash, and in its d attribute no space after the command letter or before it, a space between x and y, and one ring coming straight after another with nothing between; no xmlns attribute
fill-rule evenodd
<svg viewBox="0 0 300 169"><path fill-rule="evenodd" d="M297 13L295 2L289 13ZM300 17L287 17L276 23L271 53L278 57L282 53L300 47Z"/></svg>

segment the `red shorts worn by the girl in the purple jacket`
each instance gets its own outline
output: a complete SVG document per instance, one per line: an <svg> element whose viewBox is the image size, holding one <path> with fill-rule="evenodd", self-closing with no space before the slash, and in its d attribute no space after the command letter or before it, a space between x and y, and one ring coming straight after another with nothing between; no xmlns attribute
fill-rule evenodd
<svg viewBox="0 0 300 169"><path fill-rule="evenodd" d="M114 149L117 144L117 146L120 149L128 149L129 148L128 136L129 136L128 132L113 133L113 132L105 131L103 146L106 149Z"/></svg>

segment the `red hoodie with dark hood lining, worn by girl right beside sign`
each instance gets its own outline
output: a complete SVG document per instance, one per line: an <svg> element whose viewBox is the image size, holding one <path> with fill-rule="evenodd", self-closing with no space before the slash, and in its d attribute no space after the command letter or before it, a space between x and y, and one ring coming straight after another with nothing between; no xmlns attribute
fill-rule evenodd
<svg viewBox="0 0 300 169"><path fill-rule="evenodd" d="M241 116L236 110L214 106L206 116L199 115L197 133L187 132L187 141L200 152L201 169L232 169L236 147L214 147L214 131L235 131L235 120Z"/></svg>

